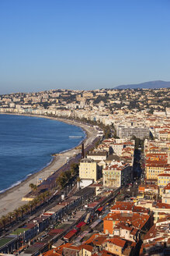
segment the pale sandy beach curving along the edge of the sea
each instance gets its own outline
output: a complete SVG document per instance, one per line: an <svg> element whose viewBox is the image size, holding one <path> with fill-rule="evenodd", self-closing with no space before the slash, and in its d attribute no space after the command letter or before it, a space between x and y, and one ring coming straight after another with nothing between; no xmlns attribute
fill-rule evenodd
<svg viewBox="0 0 170 256"><path fill-rule="evenodd" d="M46 116L38 116L46 118ZM47 117L50 118L50 117ZM92 141L95 140L97 131L91 127L87 126L82 123L78 123L69 119L59 119L59 118L52 118L61 122L65 122L71 125L80 126L83 130L85 130L86 138L84 140L85 146L88 144L92 144ZM30 183L37 183L37 180L47 179L53 172L56 172L57 169L61 168L62 165L65 164L67 158L73 157L75 154L77 155L81 149L79 148L72 148L71 150L65 151L61 154L57 154L54 156L53 161L50 165L40 170L40 172L36 172L33 175L29 176L26 180L22 183L19 183L16 187L12 187L9 190L6 190L4 193L0 194L0 217L2 215L6 215L8 212L12 212L14 209L19 208L23 204L26 204L26 201L22 201L22 198L29 193Z"/></svg>

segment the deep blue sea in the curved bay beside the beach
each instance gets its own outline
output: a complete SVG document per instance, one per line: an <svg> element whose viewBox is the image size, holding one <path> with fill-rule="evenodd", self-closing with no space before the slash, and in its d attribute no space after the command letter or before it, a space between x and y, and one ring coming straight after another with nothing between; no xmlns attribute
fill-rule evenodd
<svg viewBox="0 0 170 256"><path fill-rule="evenodd" d="M0 193L50 164L54 153L84 139L82 128L54 119L0 115Z"/></svg>

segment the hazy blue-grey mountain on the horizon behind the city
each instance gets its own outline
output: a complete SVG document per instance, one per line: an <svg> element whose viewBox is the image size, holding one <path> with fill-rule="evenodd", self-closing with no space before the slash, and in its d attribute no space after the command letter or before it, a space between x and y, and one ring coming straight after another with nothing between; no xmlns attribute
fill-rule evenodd
<svg viewBox="0 0 170 256"><path fill-rule="evenodd" d="M113 89L156 89L156 88L168 88L170 82L165 81L151 81L142 84L125 84L114 87Z"/></svg>

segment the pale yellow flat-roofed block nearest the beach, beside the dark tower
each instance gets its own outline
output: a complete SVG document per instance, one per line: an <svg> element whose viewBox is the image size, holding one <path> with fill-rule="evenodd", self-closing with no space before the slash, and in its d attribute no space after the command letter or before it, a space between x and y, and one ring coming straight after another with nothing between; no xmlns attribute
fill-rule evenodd
<svg viewBox="0 0 170 256"><path fill-rule="evenodd" d="M79 165L79 177L81 180L98 180L97 163L91 158L83 158Z"/></svg>

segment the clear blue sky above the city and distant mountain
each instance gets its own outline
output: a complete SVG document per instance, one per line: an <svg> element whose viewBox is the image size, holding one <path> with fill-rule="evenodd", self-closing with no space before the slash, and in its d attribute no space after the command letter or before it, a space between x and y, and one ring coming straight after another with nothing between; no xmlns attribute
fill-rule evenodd
<svg viewBox="0 0 170 256"><path fill-rule="evenodd" d="M0 0L0 94L170 80L168 0Z"/></svg>

